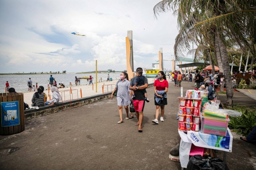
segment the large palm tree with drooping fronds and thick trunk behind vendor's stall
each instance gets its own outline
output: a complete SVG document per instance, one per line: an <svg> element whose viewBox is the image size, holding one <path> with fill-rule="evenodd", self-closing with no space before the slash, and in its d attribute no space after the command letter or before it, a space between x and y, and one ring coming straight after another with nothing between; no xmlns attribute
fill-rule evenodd
<svg viewBox="0 0 256 170"><path fill-rule="evenodd" d="M179 35L183 39L176 38L175 45L177 42L183 42L184 46L193 41L201 43L199 40L202 36L207 40L204 45L208 46L213 42L219 71L226 75L228 107L232 106L233 87L229 55L224 43L229 38L236 45L248 47L247 38L256 37L256 19L253 13L256 10L250 9L255 5L255 0L163 0L154 7L155 16L158 12L171 9L177 14L178 27L182 30ZM247 31L249 28L254 31ZM184 41L186 36L189 41Z"/></svg>

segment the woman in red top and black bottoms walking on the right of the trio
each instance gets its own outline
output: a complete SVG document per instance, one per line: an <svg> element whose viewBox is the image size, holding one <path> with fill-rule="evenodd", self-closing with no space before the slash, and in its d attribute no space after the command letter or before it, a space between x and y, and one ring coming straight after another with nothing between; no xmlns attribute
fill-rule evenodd
<svg viewBox="0 0 256 170"><path fill-rule="evenodd" d="M160 121L164 122L165 114L165 105L167 105L167 96L168 91L168 81L166 81L165 73L163 71L158 72L158 80L155 80L154 89L155 89L155 120L152 120L153 123L158 125L158 116L161 108L161 117Z"/></svg>

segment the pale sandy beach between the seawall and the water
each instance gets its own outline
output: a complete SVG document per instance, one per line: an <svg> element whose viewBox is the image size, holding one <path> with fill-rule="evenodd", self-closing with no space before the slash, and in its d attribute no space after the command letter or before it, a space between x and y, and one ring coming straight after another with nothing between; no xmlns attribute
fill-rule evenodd
<svg viewBox="0 0 256 170"><path fill-rule="evenodd" d="M102 81L97 83L97 92L96 92L96 84L93 84L93 90L92 90L92 85L73 85L72 87L70 85L66 85L66 88L61 88L59 89L60 94L63 97L63 100L68 100L70 98L70 87L72 89L72 96L73 99L81 98L81 92L80 89L82 89L82 97L88 97L88 96L93 96L97 94L102 94L102 86L104 84L104 93L106 92L111 92L115 88L115 84L118 80L113 80L113 81ZM153 83L153 78L148 78L148 83ZM44 87L46 90L44 91L47 94L47 100L49 100L49 95L52 97L53 93L51 90L49 90L49 95L48 95L48 90L47 87ZM77 89L77 90L76 90ZM69 90L69 91L67 91ZM37 90L36 90L37 91ZM24 102L27 103L29 106L31 106L32 102L31 99L36 91L31 91L24 94ZM71 96L71 98L72 98Z"/></svg>

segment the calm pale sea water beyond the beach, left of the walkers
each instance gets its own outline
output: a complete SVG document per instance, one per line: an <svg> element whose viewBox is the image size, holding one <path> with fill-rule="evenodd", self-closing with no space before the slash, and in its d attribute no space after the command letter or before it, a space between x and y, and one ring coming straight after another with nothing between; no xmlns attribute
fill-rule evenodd
<svg viewBox="0 0 256 170"><path fill-rule="evenodd" d="M5 83L9 82L10 87L14 88L17 92L27 92L28 86L27 81L31 78L32 84L36 86L36 83L39 86L44 86L46 89L47 84L49 84L49 78L51 74L26 74L26 75L0 75L0 93L4 93ZM59 83L64 82L65 86L69 86L69 83L72 82L74 85L75 76L77 77L93 77L93 83L95 82L96 76L95 74L53 74L55 81L57 81L57 85ZM106 81L108 77L108 73L98 73L97 79L102 78L102 81ZM110 78L116 80L119 79L120 73L110 73ZM86 79L81 79L80 84L85 85L88 84Z"/></svg>

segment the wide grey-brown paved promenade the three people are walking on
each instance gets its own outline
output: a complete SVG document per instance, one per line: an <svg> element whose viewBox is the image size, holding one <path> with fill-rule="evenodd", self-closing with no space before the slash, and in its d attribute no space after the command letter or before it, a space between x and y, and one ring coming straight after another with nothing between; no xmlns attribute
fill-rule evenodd
<svg viewBox="0 0 256 170"><path fill-rule="evenodd" d="M169 159L170 149L180 142L180 88L173 85L165 122L159 125L152 123L154 88L147 89L143 133L137 131L136 117L117 124L116 98L27 120L24 132L0 136L0 170L181 170L180 162ZM193 89L193 83L182 86L184 92ZM223 152L218 154L222 159ZM253 170L255 160L256 146L235 138L227 154L229 170Z"/></svg>

